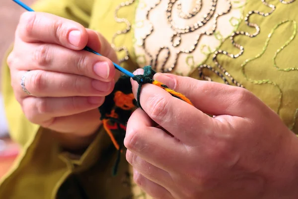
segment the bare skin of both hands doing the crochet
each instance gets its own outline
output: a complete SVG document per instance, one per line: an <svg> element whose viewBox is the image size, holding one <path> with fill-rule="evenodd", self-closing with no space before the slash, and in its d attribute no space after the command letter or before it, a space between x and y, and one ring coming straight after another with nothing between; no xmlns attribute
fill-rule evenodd
<svg viewBox="0 0 298 199"><path fill-rule="evenodd" d="M38 12L21 16L14 44L7 62L25 116L51 129L69 149L88 146L101 125L97 107L119 76L110 44L74 21ZM103 56L81 51L86 45ZM30 96L19 84L28 70ZM143 86L144 110L129 119L125 146L134 180L150 196L298 198L298 138L262 101L245 89L214 82L169 74L154 79L194 106L154 85ZM132 86L136 97L138 85L132 81Z"/></svg>

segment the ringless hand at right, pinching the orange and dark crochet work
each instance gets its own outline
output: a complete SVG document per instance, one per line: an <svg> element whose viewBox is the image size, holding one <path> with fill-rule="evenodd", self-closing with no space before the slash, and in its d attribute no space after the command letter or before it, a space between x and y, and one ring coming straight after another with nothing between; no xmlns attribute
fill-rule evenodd
<svg viewBox="0 0 298 199"><path fill-rule="evenodd" d="M215 82L154 79L194 106L143 86L144 110L132 114L124 142L145 192L156 199L298 198L298 138L261 100Z"/></svg>

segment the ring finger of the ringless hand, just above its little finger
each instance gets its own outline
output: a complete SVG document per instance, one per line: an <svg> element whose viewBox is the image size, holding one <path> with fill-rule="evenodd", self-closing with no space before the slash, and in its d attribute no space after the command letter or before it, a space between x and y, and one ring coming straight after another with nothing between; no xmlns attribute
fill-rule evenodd
<svg viewBox="0 0 298 199"><path fill-rule="evenodd" d="M130 150L126 151L126 159L134 169L150 181L165 188L168 188L169 185L172 184L172 179L168 172L143 160L140 156Z"/></svg>

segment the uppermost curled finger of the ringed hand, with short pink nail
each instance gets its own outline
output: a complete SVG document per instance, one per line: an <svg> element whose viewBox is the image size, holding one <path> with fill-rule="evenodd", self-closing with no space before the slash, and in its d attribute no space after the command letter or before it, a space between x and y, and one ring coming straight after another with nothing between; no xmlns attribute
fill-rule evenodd
<svg viewBox="0 0 298 199"><path fill-rule="evenodd" d="M44 12L23 13L16 34L25 42L54 43L73 50L83 49L88 41L81 24Z"/></svg>

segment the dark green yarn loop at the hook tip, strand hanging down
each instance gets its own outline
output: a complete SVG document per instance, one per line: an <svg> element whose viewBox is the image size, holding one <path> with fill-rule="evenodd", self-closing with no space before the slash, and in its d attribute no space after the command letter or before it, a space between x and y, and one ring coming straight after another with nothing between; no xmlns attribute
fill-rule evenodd
<svg viewBox="0 0 298 199"><path fill-rule="evenodd" d="M133 80L135 80L139 84L138 92L137 92L137 106L140 108L142 108L140 103L142 86L147 83L152 83L154 74L155 74L155 71L152 70L151 66L145 66L143 75L135 75L133 77Z"/></svg>

